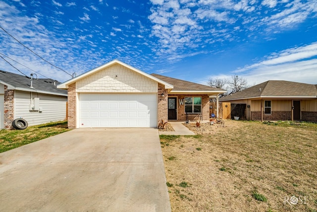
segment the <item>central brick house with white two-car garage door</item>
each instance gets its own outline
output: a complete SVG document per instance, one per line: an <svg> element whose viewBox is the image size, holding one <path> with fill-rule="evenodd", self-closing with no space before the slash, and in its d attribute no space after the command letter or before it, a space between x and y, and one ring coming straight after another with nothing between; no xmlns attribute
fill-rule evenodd
<svg viewBox="0 0 317 212"><path fill-rule="evenodd" d="M148 74L111 61L58 88L68 89L68 127L157 127L163 120L209 121L218 88ZM195 113L193 113L193 111Z"/></svg>

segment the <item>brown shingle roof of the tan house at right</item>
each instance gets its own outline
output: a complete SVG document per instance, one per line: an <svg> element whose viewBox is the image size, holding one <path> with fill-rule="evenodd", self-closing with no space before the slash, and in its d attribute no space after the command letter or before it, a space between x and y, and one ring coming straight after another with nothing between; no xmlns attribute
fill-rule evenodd
<svg viewBox="0 0 317 212"><path fill-rule="evenodd" d="M219 101L250 98L317 98L317 85L284 80L268 80L221 97Z"/></svg>

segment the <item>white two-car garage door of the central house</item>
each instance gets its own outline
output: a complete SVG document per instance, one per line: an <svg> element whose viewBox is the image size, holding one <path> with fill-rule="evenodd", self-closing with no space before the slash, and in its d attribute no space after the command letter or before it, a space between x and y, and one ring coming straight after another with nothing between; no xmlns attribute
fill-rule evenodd
<svg viewBox="0 0 317 212"><path fill-rule="evenodd" d="M157 94L79 94L79 127L157 127Z"/></svg>

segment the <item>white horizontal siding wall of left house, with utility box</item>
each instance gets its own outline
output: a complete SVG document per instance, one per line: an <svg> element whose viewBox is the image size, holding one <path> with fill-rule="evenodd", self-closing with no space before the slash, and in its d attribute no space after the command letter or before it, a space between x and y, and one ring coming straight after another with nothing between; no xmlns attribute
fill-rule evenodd
<svg viewBox="0 0 317 212"><path fill-rule="evenodd" d="M56 96L32 92L32 98L40 98L42 112L29 111L31 92L14 92L14 119L23 117L29 126L66 119L66 96Z"/></svg>

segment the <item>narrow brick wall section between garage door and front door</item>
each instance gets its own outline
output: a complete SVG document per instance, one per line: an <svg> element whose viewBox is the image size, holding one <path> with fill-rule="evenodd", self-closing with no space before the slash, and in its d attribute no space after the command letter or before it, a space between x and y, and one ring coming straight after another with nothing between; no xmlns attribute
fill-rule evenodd
<svg viewBox="0 0 317 212"><path fill-rule="evenodd" d="M165 122L167 121L167 89L164 85L158 84L158 122L161 119ZM162 93L164 93L164 97L162 97Z"/></svg>

